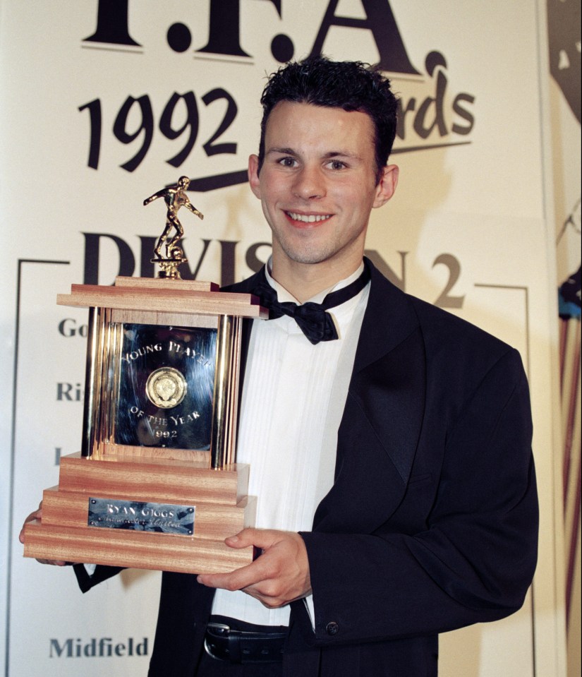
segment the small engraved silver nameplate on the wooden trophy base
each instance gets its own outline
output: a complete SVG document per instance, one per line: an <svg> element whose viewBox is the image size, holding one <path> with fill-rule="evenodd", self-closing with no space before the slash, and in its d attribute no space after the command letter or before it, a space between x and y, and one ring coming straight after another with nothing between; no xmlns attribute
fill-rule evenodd
<svg viewBox="0 0 582 677"><path fill-rule="evenodd" d="M119 498L92 497L89 499L87 525L193 536L194 512L193 505L141 503L121 501Z"/></svg>

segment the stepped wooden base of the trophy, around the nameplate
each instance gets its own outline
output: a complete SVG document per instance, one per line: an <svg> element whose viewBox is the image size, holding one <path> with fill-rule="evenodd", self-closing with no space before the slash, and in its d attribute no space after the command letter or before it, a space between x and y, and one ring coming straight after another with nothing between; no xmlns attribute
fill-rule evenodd
<svg viewBox="0 0 582 677"><path fill-rule="evenodd" d="M253 549L229 548L224 539L255 523L256 498L245 495L249 467L208 466L206 460L114 453L64 456L59 486L44 491L42 521L25 526L24 556L194 574L248 565ZM128 502L190 505L193 535L92 526L88 523L92 498L109 502L118 521L119 505ZM122 510L127 511L128 522L137 521L137 508Z"/></svg>

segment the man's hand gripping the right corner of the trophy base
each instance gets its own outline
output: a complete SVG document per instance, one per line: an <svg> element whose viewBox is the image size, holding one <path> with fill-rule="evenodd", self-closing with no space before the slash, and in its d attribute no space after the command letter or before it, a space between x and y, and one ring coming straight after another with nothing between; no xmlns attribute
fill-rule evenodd
<svg viewBox="0 0 582 677"><path fill-rule="evenodd" d="M201 574L198 582L225 590L242 590L268 609L311 593L305 543L295 532L243 529L224 541L231 548L255 546L263 553L252 564L230 573Z"/></svg>

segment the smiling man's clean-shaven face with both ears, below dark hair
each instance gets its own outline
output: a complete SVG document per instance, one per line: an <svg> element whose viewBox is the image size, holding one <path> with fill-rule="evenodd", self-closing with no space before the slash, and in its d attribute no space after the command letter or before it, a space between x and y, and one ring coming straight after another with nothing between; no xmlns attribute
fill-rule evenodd
<svg viewBox="0 0 582 677"><path fill-rule="evenodd" d="M265 161L249 160L250 186L273 234L273 265L361 262L372 208L394 193L398 168L376 184L374 126L365 113L305 103L274 107Z"/></svg>

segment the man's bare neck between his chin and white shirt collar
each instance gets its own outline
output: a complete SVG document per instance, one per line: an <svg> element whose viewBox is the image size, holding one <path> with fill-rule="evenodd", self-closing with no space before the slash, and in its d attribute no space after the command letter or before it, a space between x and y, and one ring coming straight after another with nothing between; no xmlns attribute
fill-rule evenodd
<svg viewBox="0 0 582 677"><path fill-rule="evenodd" d="M277 260L273 256L271 275L290 294L305 303L324 289L329 289L340 280L345 280L358 270L361 257L349 264L323 261L321 263L297 263L288 259Z"/></svg>

